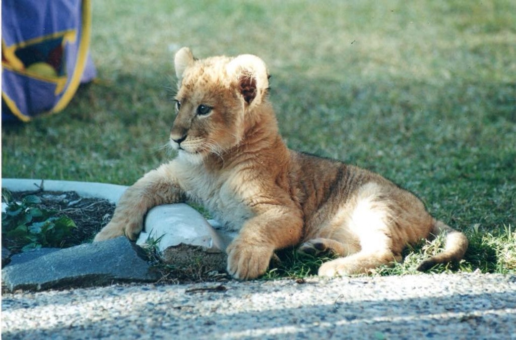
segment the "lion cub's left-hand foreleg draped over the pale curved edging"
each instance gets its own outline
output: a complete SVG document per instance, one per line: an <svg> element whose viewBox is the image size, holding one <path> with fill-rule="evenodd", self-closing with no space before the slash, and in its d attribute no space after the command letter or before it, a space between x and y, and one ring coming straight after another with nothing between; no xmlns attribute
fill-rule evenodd
<svg viewBox="0 0 516 340"><path fill-rule="evenodd" d="M123 193L111 221L95 236L94 241L126 236L138 237L147 211L160 204L184 201L184 192L165 164L147 173Z"/></svg>

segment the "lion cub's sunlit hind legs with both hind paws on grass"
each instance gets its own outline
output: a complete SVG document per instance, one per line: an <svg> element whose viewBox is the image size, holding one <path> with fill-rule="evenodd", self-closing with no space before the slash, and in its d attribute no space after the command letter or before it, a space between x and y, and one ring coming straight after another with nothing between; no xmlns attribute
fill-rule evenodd
<svg viewBox="0 0 516 340"><path fill-rule="evenodd" d="M315 236L327 235L328 239L315 238L301 245L305 253L332 250L342 256L322 264L320 276L367 273L381 265L401 261L405 242L394 241L398 238L395 214L384 190L376 183L365 184L347 200L332 223L318 230Z"/></svg>

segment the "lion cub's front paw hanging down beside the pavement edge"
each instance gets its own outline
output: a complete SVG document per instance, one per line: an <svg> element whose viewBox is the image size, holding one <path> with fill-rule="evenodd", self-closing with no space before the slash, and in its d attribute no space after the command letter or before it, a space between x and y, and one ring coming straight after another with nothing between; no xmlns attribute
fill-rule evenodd
<svg viewBox="0 0 516 340"><path fill-rule="evenodd" d="M238 280L255 279L265 273L274 252L271 246L256 246L234 240L226 249L228 273Z"/></svg>

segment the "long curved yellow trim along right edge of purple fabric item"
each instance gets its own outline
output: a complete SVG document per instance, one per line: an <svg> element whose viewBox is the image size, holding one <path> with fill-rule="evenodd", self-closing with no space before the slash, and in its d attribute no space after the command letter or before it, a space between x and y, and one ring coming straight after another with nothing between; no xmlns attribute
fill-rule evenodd
<svg viewBox="0 0 516 340"><path fill-rule="evenodd" d="M66 105L68 105L70 100L72 100L77 87L79 87L80 78L83 76L84 68L86 67L91 32L91 11L89 0L83 0L82 14L82 27L80 30L80 42L79 48L77 50L77 61L75 63L75 68L73 70L68 88L65 90L65 93L62 95L61 99L59 99L57 104L51 110L53 113L65 109Z"/></svg>

